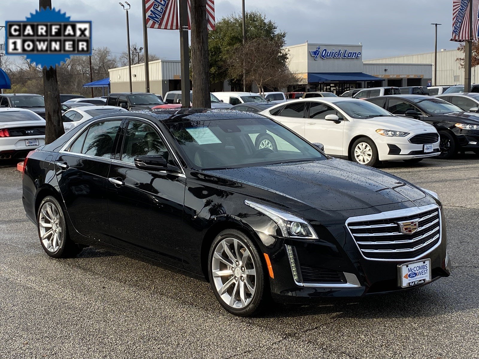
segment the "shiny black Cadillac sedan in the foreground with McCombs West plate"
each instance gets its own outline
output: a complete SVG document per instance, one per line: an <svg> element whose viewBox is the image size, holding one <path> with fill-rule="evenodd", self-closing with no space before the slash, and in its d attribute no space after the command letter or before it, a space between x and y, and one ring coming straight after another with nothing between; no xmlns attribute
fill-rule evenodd
<svg viewBox="0 0 479 359"><path fill-rule="evenodd" d="M276 151L255 148L266 133ZM434 192L247 112L93 118L29 154L23 205L49 256L100 246L166 263L242 316L271 298L391 292L450 273Z"/></svg>

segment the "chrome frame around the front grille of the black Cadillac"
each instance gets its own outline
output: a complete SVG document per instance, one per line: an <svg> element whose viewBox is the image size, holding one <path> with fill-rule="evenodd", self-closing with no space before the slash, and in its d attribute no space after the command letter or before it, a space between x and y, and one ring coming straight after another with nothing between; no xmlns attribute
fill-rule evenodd
<svg viewBox="0 0 479 359"><path fill-rule="evenodd" d="M404 259L368 258L368 257L365 256L365 254L363 253L363 251L359 247L359 244L356 242L356 239L354 238L354 235L353 235L353 233L351 232L351 230L348 226L348 224L352 223L352 222L354 223L354 222L363 222L363 221L375 221L375 220L380 220L380 219L392 219L392 218L396 218L396 217L407 217L407 216L411 216L411 215L415 215L415 214L420 214L422 212L430 211L430 210L433 210L433 209L437 209L437 211L439 213L439 241L437 242L437 244L434 247L432 247L431 249L429 249L428 251L426 251L424 253L421 253L419 256L416 256L414 258L404 258ZM387 212L381 212L381 213L376 213L376 214L366 214L366 215L362 215L362 216L349 217L346 220L345 225L346 225L346 228L348 230L348 233L351 235L351 237L354 241L354 244L358 248L358 251L359 251L359 253L361 253L361 256L363 258L365 258L367 260L377 260L377 261L381 261L381 262L402 262L402 263L406 263L408 261L410 262L410 261L414 261L414 260L423 258L424 256L428 255L434 249L436 249L437 247L439 247L441 245L442 239L443 239L442 216L441 216L441 214L442 214L441 209L437 204L427 204L427 205L421 206L421 207L404 208L404 209L400 209L400 210L387 211ZM376 251L375 251L376 253L381 253L381 250L376 250ZM404 251L396 250L395 253L396 252L400 253L400 252L404 252ZM390 251L390 252L387 252L387 253L393 253L393 252Z"/></svg>

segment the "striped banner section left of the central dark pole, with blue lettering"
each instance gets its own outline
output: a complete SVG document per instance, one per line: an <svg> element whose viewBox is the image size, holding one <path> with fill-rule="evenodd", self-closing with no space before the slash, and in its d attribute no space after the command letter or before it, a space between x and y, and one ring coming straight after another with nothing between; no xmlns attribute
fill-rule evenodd
<svg viewBox="0 0 479 359"><path fill-rule="evenodd" d="M177 0L144 0L147 13L147 27L152 29L178 30Z"/></svg>

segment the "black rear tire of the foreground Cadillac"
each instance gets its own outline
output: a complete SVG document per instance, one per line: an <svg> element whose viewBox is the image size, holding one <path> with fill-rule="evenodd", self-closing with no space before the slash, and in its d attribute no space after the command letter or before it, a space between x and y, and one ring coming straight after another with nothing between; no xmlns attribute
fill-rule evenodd
<svg viewBox="0 0 479 359"><path fill-rule="evenodd" d="M48 207L50 207L50 212L48 212ZM44 211L44 213L42 213ZM46 212L46 214L45 214ZM50 221L48 218L53 218L54 216L51 215L54 213L54 216L57 215L57 218L54 218L53 221ZM45 217L47 216L47 218ZM63 208L61 204L57 201L57 199L53 196L46 196L42 202L40 202L40 206L38 206L38 213L36 214L37 219L37 231L38 231L38 238L40 239L40 245L45 250L45 253L53 258L72 258L76 257L80 252L82 247L78 244L73 243L68 235L68 227L67 221L65 219L65 213L63 212ZM51 225L51 229L59 238L60 244L55 246L52 244L54 239L48 240L49 238L53 238L51 235L46 236L45 240L42 240L42 229L45 228L40 223L46 223L46 225ZM53 223L52 223L53 222ZM46 247L46 243L48 243L49 247ZM50 249L49 249L50 248Z"/></svg>

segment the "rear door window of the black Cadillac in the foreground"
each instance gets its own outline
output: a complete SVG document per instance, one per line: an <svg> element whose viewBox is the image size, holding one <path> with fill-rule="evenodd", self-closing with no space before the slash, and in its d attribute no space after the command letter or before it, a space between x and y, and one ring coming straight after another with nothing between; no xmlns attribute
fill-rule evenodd
<svg viewBox="0 0 479 359"><path fill-rule="evenodd" d="M113 143L120 124L121 120L93 123L70 146L70 152L110 158L113 154Z"/></svg>

